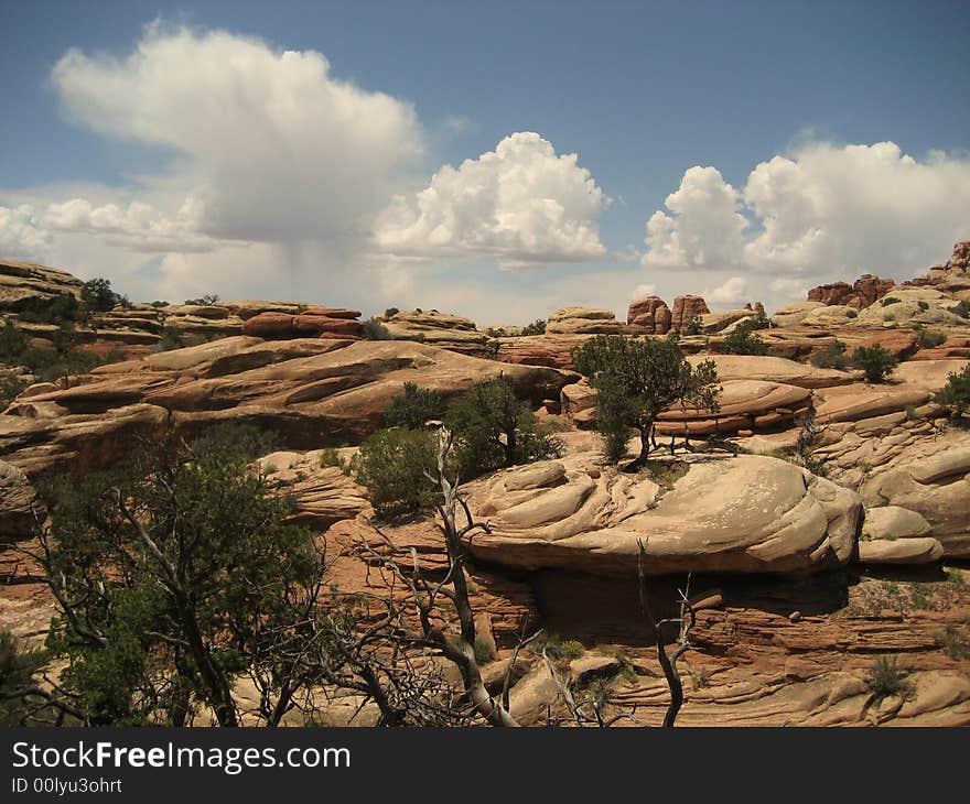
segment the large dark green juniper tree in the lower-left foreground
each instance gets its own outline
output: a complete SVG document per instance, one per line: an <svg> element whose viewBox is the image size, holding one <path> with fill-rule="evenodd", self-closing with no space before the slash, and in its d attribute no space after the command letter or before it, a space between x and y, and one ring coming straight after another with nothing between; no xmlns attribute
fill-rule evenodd
<svg viewBox="0 0 970 804"><path fill-rule="evenodd" d="M287 676L305 683L278 649L309 633L322 558L252 470L250 442L170 434L117 471L50 489L44 571L63 597L47 649L85 724L182 726L207 704L236 726L236 680L262 678L269 702Z"/></svg>

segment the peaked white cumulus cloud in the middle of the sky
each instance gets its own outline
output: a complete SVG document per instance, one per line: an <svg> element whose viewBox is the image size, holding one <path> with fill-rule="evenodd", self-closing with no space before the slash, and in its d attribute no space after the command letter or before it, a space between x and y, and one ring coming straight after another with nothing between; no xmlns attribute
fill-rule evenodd
<svg viewBox="0 0 970 804"><path fill-rule="evenodd" d="M606 253L595 219L608 203L576 154L520 131L398 196L374 240L396 254L494 256L508 269L580 262Z"/></svg>

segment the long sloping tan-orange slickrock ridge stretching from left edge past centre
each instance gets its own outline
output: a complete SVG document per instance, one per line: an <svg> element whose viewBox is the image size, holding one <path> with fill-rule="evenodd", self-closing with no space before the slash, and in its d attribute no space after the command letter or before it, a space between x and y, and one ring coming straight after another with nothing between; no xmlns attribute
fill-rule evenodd
<svg viewBox="0 0 970 804"><path fill-rule="evenodd" d="M537 406L579 379L410 341L225 339L106 366L24 401L67 414L0 416L0 457L31 471L75 460L104 466L123 453L125 423L170 416L186 435L234 421L273 431L289 448L340 446L377 430L406 382L455 396L499 376Z"/></svg>

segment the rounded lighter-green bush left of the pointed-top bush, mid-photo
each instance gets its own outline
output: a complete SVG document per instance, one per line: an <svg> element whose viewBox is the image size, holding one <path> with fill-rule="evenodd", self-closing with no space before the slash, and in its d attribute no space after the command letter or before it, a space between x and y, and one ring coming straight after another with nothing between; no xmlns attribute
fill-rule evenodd
<svg viewBox="0 0 970 804"><path fill-rule="evenodd" d="M414 514L431 507L436 475L435 434L424 430L379 430L368 436L351 461L370 502L385 518Z"/></svg>

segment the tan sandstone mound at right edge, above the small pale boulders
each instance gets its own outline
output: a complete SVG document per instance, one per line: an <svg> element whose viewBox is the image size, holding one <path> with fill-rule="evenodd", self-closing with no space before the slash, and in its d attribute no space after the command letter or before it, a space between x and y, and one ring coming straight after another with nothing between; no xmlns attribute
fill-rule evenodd
<svg viewBox="0 0 970 804"><path fill-rule="evenodd" d="M869 506L919 513L946 556L970 557L970 446L899 460L864 480L860 493Z"/></svg>

